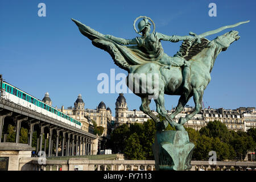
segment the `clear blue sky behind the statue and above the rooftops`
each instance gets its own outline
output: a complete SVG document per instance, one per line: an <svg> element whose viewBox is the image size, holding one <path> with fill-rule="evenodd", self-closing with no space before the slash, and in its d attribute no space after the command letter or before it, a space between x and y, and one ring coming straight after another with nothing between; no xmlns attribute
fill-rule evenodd
<svg viewBox="0 0 256 182"><path fill-rule="evenodd" d="M46 17L38 16L38 4L46 4ZM210 17L209 3L217 5ZM131 39L138 34L133 21L150 16L156 31L166 35L201 34L244 20L250 23L208 36L209 40L230 30L240 32L240 40L218 55L212 81L204 92L205 107L236 109L256 103L256 1L0 1L0 73L7 82L39 99L49 92L53 106L73 106L82 94L85 108L94 109L104 101L114 113L118 93L97 92L100 73L126 73L110 55L82 36L71 18L102 34ZM181 44L163 42L172 56ZM130 110L139 109L141 99L125 94ZM178 96L166 96L166 108L177 105ZM193 100L188 102L194 106ZM152 102L151 109L155 109Z"/></svg>

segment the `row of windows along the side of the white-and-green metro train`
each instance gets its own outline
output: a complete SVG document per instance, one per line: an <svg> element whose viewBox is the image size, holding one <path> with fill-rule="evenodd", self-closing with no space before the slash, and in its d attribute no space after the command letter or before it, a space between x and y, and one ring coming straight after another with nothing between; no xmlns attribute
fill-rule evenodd
<svg viewBox="0 0 256 182"><path fill-rule="evenodd" d="M53 107L48 106L48 105L44 104L43 102L40 102L40 101L36 100L35 98L32 98L32 97L28 96L27 94L25 94L23 92L20 92L19 90L13 88L10 85L3 84L3 88L6 89L6 92L11 93L14 96L22 98L23 100L25 100L27 102L30 102L31 104L34 104L38 107L41 107L45 110L48 110L51 113L59 115L60 117L63 117L65 119L67 119L68 121L71 121L71 122L76 123L77 125L81 126L81 123L79 121L76 121L76 119L73 119L73 118L69 117L68 115L65 115L65 114L61 113L60 111L54 109Z"/></svg>

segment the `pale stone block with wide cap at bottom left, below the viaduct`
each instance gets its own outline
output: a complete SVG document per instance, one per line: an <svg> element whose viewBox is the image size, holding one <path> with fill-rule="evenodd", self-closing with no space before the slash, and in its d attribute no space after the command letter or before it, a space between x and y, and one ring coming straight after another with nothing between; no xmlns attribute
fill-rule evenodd
<svg viewBox="0 0 256 182"><path fill-rule="evenodd" d="M8 171L19 171L19 159L31 158L35 148L22 143L0 143L0 158L8 158Z"/></svg>

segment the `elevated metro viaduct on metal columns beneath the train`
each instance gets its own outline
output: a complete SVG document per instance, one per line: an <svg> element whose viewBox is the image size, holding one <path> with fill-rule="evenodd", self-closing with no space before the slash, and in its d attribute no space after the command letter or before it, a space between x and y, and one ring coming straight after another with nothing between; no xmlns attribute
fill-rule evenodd
<svg viewBox="0 0 256 182"><path fill-rule="evenodd" d="M20 142L20 129L27 129L30 147L36 131L36 154L44 151L46 156L96 155L101 146L102 139L94 134L0 97L0 142L7 142L9 125L15 126L15 143Z"/></svg>

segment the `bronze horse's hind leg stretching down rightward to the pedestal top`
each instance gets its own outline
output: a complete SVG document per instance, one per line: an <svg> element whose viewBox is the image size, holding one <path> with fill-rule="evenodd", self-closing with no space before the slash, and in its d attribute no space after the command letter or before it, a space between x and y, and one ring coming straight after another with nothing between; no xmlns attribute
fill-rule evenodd
<svg viewBox="0 0 256 182"><path fill-rule="evenodd" d="M175 127L177 130L185 130L184 127L182 125L179 125L179 123L176 123L174 121L174 119L172 119L170 117L170 115L167 113L166 108L164 107L164 91L163 90L159 90L159 96L158 98L155 100L155 104L156 104L156 111L162 115L164 118L166 118L166 120L170 123L170 125L172 127ZM164 123L165 124L165 123ZM165 127L167 127L168 125L164 125Z"/></svg>

